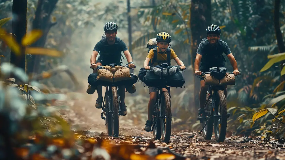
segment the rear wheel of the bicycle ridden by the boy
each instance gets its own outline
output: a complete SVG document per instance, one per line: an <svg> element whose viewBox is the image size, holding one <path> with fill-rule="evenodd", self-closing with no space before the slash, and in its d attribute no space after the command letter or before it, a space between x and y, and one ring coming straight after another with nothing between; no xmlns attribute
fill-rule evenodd
<svg viewBox="0 0 285 160"><path fill-rule="evenodd" d="M159 108L158 108L158 102L156 101L155 108L154 108L154 114L152 116L152 124L153 124L153 130L152 134L154 137L154 140L159 140L161 138L161 125L160 125L160 119L159 116Z"/></svg>

